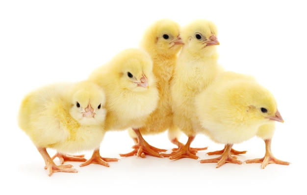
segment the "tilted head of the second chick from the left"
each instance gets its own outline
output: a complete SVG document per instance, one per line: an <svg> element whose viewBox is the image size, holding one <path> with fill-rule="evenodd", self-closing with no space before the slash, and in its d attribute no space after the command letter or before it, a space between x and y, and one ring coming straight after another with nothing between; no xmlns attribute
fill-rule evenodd
<svg viewBox="0 0 307 195"><path fill-rule="evenodd" d="M116 75L121 89L145 91L155 85L153 61L149 54L138 48L128 48L112 60L113 75Z"/></svg>

